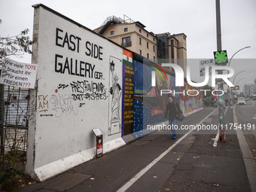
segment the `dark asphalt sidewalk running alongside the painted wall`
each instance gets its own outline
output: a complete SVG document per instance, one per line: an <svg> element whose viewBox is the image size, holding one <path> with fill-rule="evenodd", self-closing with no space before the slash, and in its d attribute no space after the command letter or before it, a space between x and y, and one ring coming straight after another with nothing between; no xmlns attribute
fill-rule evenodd
<svg viewBox="0 0 256 192"><path fill-rule="evenodd" d="M218 124L215 109L191 114L178 126ZM227 109L226 123L233 123L232 108ZM235 131L227 130L227 142L218 142L216 147L217 130L194 130L186 136L187 132L178 131L172 140L171 131L156 131L17 191L251 191Z"/></svg>

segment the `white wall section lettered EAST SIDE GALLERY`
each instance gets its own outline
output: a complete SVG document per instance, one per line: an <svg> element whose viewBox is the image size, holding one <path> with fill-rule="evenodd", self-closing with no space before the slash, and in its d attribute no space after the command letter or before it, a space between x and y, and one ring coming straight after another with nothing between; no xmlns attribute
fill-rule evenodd
<svg viewBox="0 0 256 192"><path fill-rule="evenodd" d="M44 181L95 156L93 129L102 132L104 152L125 144L123 48L43 5L35 7L33 38L38 74L26 172Z"/></svg>

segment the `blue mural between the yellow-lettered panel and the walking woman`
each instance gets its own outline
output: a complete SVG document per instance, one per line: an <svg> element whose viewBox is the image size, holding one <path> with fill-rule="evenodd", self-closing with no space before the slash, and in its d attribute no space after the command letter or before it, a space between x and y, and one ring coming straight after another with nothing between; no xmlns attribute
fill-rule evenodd
<svg viewBox="0 0 256 192"><path fill-rule="evenodd" d="M156 87L151 86L151 72L155 69L151 66L142 64L134 60L134 122L133 132L146 129L148 124L157 124L163 122L163 113L168 103L168 94L160 96L160 90L173 89L175 87L175 78L171 75L166 75L162 78L159 73L156 73Z"/></svg>

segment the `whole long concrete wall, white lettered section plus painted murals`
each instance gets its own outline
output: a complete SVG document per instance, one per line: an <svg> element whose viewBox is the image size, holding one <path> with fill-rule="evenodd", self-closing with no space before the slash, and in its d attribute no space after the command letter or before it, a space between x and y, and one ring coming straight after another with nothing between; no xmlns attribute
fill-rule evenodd
<svg viewBox="0 0 256 192"><path fill-rule="evenodd" d="M174 76L163 80L158 73L151 87L154 69L133 60L135 54L44 5L34 8L38 74L30 94L26 172L44 181L95 157L93 129L102 132L103 153L150 133L146 125L163 123L168 102L160 89L181 88ZM202 108L201 97L176 99L190 113Z"/></svg>

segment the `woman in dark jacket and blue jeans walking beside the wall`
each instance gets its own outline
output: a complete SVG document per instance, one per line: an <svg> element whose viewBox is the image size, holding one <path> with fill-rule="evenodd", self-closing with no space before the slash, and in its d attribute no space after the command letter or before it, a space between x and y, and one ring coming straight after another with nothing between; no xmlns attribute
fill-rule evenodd
<svg viewBox="0 0 256 192"><path fill-rule="evenodd" d="M169 97L169 102L166 105L166 113L164 114L165 120L167 120L167 114L169 114L169 117L168 117L169 125L172 127L172 139L176 139L177 117L181 114L181 109L179 108L179 105L177 102L175 105L172 97Z"/></svg>

